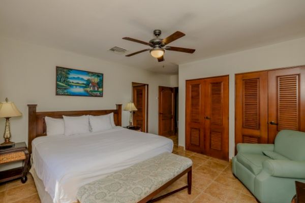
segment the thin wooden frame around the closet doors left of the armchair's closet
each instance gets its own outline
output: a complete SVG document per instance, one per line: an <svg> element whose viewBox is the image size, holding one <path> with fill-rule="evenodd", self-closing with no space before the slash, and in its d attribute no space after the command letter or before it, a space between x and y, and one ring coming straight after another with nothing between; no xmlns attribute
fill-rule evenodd
<svg viewBox="0 0 305 203"><path fill-rule="evenodd" d="M201 79L209 79L209 78L220 78L220 77L228 77L228 133L227 133L227 138L228 138L228 156L229 157L229 148L230 148L230 75L221 75L221 76L211 76L211 77L205 77L205 78L196 78L196 79L189 79L186 80L185 82L185 104L187 104L187 81L192 81L192 80L201 80ZM185 146L187 146L187 122L186 122L186 115L187 115L187 108L185 107Z"/></svg>

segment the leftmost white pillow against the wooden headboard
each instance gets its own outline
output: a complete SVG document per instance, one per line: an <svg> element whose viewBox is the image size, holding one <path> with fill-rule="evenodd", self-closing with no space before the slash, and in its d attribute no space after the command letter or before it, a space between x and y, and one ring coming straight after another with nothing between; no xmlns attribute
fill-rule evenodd
<svg viewBox="0 0 305 203"><path fill-rule="evenodd" d="M65 134L65 123L62 118L45 117L47 125L47 136L55 136L57 134Z"/></svg>

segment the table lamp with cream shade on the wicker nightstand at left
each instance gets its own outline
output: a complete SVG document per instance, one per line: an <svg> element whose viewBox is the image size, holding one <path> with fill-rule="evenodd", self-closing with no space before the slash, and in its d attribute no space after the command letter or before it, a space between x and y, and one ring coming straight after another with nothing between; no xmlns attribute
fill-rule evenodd
<svg viewBox="0 0 305 203"><path fill-rule="evenodd" d="M21 116L21 112L17 109L14 103L9 101L8 98L5 99L5 102L0 103L0 118L6 118L5 130L4 130L4 143L0 146L13 146L14 142L10 141L11 131L10 131L10 118Z"/></svg>

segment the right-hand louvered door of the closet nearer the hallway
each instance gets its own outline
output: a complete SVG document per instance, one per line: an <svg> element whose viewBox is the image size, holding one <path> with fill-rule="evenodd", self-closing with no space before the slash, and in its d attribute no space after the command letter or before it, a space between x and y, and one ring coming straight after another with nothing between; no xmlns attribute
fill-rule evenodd
<svg viewBox="0 0 305 203"><path fill-rule="evenodd" d="M207 155L229 158L229 77L205 79L205 147Z"/></svg>

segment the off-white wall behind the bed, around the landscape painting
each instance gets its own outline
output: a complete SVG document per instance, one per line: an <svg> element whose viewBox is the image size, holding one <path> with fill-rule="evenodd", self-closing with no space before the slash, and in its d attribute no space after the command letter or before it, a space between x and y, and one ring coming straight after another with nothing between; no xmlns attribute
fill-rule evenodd
<svg viewBox="0 0 305 203"><path fill-rule="evenodd" d="M104 96L56 96L55 66L104 74ZM158 86L170 86L170 76L150 73L121 64L72 52L0 38L0 101L14 101L22 117L11 118L12 141L27 142L27 104L38 104L38 111L123 108L131 99L132 82L149 85L148 131L158 133ZM123 111L123 126L129 112ZM5 119L0 119L0 134ZM3 139L0 138L0 142Z"/></svg>

